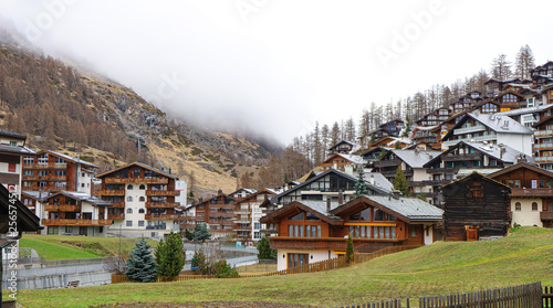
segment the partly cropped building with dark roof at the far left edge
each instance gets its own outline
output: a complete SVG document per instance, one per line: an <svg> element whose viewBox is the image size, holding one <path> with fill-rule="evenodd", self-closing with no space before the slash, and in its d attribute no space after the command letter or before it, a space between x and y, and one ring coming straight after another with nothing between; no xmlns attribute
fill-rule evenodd
<svg viewBox="0 0 553 308"><path fill-rule="evenodd" d="M21 197L23 157L35 153L25 147L27 136L0 129L0 183Z"/></svg>

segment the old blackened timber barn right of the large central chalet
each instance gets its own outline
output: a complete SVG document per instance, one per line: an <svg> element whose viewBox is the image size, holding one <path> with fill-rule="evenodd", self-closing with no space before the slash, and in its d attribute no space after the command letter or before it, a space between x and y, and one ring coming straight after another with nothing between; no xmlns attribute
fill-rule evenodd
<svg viewBox="0 0 553 308"><path fill-rule="evenodd" d="M472 172L441 187L444 192L444 240L471 241L505 236L509 230L511 188Z"/></svg>

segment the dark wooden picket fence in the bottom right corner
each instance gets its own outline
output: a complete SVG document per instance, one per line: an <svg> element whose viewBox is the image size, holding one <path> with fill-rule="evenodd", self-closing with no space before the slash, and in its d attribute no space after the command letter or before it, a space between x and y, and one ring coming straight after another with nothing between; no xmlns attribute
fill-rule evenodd
<svg viewBox="0 0 553 308"><path fill-rule="evenodd" d="M542 302L543 297L543 302ZM367 302L362 305L336 306L336 308L542 308L546 306L546 288L542 294L542 284L533 283L507 288L489 289L467 294L450 294L438 296L422 296L418 298L418 306L411 306L409 298L401 306L400 299ZM551 302L550 302L551 305ZM332 307L331 307L332 308Z"/></svg>

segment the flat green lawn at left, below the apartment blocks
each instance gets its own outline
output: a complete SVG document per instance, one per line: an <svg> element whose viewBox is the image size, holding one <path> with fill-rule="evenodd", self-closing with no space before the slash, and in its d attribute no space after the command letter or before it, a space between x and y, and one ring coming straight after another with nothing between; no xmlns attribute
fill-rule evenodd
<svg viewBox="0 0 553 308"><path fill-rule="evenodd" d="M122 238L122 254L128 255L136 241L136 238ZM148 243L152 246L157 246L155 241L148 241ZM119 253L119 238L25 234L20 241L20 246L35 248L40 255L42 255L44 248L46 261L92 258L117 255Z"/></svg>

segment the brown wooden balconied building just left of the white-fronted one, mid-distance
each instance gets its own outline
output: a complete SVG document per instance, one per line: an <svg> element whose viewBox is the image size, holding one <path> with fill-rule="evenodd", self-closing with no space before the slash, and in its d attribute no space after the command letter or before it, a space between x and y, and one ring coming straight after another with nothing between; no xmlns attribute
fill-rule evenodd
<svg viewBox="0 0 553 308"><path fill-rule="evenodd" d="M229 237L236 234L236 206L237 199L222 193L194 204L196 210L196 224L208 224L208 230L215 238Z"/></svg>

